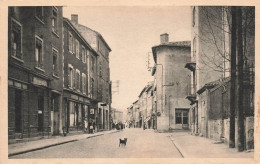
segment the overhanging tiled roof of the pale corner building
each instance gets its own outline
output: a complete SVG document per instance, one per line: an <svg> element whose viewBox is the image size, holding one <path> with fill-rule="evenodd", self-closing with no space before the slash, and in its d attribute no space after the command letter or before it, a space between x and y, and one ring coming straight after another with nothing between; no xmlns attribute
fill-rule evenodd
<svg viewBox="0 0 260 164"><path fill-rule="evenodd" d="M179 41L179 42L167 42L167 43L162 43L157 46L152 47L153 51L153 59L156 63L156 49L160 47L183 47L183 48L190 48L191 47L191 42L190 41Z"/></svg>

